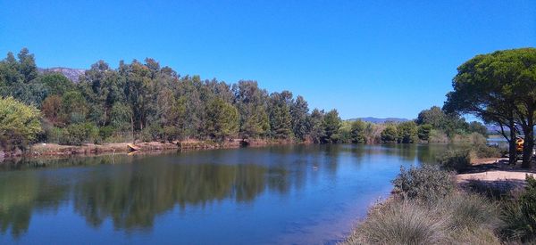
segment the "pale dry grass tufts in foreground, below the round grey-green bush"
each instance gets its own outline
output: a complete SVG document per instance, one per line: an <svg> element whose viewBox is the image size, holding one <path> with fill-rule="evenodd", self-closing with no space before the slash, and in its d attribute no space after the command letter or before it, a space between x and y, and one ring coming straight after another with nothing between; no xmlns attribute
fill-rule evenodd
<svg viewBox="0 0 536 245"><path fill-rule="evenodd" d="M499 214L464 192L428 204L395 198L374 207L344 244L500 244Z"/></svg>

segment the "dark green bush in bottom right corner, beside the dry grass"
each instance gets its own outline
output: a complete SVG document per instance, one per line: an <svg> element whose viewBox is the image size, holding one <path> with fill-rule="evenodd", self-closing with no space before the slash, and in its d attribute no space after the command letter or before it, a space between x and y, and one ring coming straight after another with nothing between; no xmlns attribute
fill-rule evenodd
<svg viewBox="0 0 536 245"><path fill-rule="evenodd" d="M532 242L536 239L536 179L526 176L526 182L524 192L505 208L502 232L507 238Z"/></svg>

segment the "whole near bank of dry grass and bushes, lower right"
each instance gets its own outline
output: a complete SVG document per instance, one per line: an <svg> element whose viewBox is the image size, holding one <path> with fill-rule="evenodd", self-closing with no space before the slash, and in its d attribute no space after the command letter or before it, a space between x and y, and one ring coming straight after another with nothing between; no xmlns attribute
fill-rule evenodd
<svg viewBox="0 0 536 245"><path fill-rule="evenodd" d="M480 152L482 154L482 152ZM536 238L536 180L455 182L474 151L447 152L442 167L401 169L389 200L370 208L344 244L518 244Z"/></svg>

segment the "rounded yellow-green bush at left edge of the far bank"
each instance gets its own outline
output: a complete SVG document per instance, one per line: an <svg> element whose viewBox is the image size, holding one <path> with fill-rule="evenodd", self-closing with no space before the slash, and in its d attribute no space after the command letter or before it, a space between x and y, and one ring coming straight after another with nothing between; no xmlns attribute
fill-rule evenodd
<svg viewBox="0 0 536 245"><path fill-rule="evenodd" d="M36 140L42 131L40 112L13 97L0 98L0 146L11 150Z"/></svg>

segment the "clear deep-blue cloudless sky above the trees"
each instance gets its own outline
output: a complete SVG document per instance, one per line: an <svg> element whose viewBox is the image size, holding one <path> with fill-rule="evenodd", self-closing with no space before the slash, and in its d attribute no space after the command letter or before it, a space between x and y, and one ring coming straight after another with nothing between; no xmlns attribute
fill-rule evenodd
<svg viewBox="0 0 536 245"><path fill-rule="evenodd" d="M8 1L0 54L40 67L155 58L181 75L255 79L342 118L415 118L478 53L536 46L536 1Z"/></svg>

